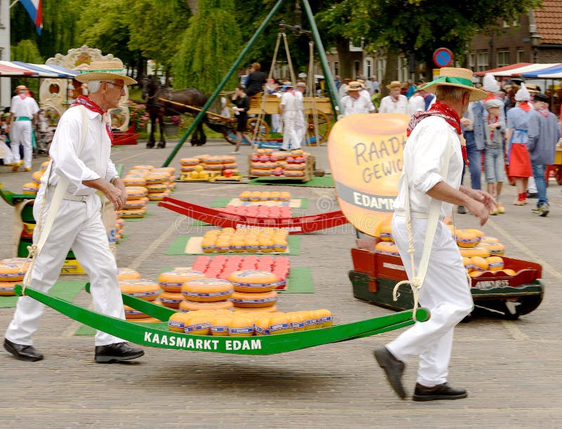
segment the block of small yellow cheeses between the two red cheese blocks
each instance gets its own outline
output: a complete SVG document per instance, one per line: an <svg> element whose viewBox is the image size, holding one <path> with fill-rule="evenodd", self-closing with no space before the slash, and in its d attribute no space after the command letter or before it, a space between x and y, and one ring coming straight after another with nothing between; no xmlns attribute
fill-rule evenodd
<svg viewBox="0 0 562 429"><path fill-rule="evenodd" d="M289 232L280 228L226 227L205 232L201 242L204 253L270 253L287 251Z"/></svg>

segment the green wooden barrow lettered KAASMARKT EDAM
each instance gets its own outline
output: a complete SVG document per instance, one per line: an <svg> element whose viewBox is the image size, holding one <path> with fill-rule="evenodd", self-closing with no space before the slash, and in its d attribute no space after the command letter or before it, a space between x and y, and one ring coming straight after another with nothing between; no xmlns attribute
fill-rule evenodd
<svg viewBox="0 0 562 429"><path fill-rule="evenodd" d="M22 296L21 285L15 286L15 293ZM290 334L245 337L199 336L169 331L167 320L174 314L174 310L133 296L123 295L124 304L162 320L162 323L133 323L115 317L100 315L30 287L25 289L25 295L44 303L77 322L107 332L107 334L117 336L118 338L123 338L131 343L157 348L236 355L273 355L290 352L316 345L381 334L382 332L392 331L393 329L399 329L414 323L412 311L408 310L360 322ZM429 311L419 309L417 317L419 321L427 320L429 319Z"/></svg>

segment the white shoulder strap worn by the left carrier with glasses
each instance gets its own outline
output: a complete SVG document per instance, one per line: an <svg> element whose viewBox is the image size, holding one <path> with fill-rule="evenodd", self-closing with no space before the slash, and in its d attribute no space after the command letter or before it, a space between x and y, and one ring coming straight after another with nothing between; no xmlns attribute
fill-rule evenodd
<svg viewBox="0 0 562 429"><path fill-rule="evenodd" d="M77 106L77 108L81 112L82 117L82 126L81 126L81 136L80 136L80 143L78 146L77 154L78 156L81 155L82 150L84 149L84 142L86 141L86 134L88 133L88 112L86 111L86 107L84 106ZM48 178L51 176L51 169L53 168L53 160L49 162L48 167L45 171L47 175L47 185L48 185ZM55 192L53 197L51 198L51 206L49 206L47 217L45 219L45 224L42 225L43 219L43 211L45 209L45 198L41 201L41 210L39 211L39 219L37 219L37 229L39 230L39 237L37 239L37 244L33 244L32 246L28 246L27 250L30 252L27 258L32 258L32 263L29 268L29 272L32 272L33 265L35 262L35 258L41 253L41 249L45 242L47 241L47 237L49 232L51 232L51 228L53 227L53 223L55 222L55 216L58 213L58 209L60 208L60 204L63 202L63 197L65 196L66 190L68 188L68 180L63 176L58 178L57 185L55 187ZM28 282L30 282L31 274L25 277L24 282L24 291L25 286L27 286Z"/></svg>

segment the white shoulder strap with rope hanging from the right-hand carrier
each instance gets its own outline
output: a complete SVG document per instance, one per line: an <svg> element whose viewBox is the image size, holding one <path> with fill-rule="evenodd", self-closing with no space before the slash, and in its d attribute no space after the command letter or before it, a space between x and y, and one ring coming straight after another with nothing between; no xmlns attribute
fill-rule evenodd
<svg viewBox="0 0 562 429"><path fill-rule="evenodd" d="M449 141L447 147L445 148L445 163L443 164L443 169L440 171L441 177L443 180L447 180L447 173L449 172L449 160L451 157L452 151L452 137L449 132ZM406 227L408 232L408 253L410 253L410 262L412 264L412 279L411 280L404 280L403 282L398 282L396 286L394 286L393 290L393 300L398 300L398 288L402 284L410 284L412 287L412 294L414 296L414 308L412 310L414 320L416 319L416 310L418 307L418 299L419 299L419 291L421 291L421 287L424 285L424 280L427 273L427 268L429 266L429 257L431 256L431 247L433 246L433 239L435 239L436 231L437 231L437 224L439 222L439 215L441 211L441 204L438 199L431 199L431 203L429 205L429 213L427 218L427 225L426 225L426 238L424 241L424 249L421 251L421 260L419 261L418 272L416 274L416 267L414 265L414 243L412 239L412 213L410 212L410 187L408 185L408 177L407 173L404 170L404 180L403 180L403 190L404 190L404 197L405 197L405 216L406 216Z"/></svg>

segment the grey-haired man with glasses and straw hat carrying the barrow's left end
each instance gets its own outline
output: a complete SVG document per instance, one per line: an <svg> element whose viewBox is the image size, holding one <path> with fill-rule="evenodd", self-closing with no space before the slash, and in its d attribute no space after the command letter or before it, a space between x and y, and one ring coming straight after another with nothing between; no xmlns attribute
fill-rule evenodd
<svg viewBox="0 0 562 429"><path fill-rule="evenodd" d="M126 201L123 181L110 159L111 124L107 110L118 107L124 86L136 84L125 76L121 61L91 62L91 70L75 79L88 84L89 95L81 95L58 122L49 155L51 164L41 178L41 187L34 202L34 218L46 219L55 187L68 183L62 204L56 212L46 242L35 256L33 269L27 272L30 286L48 292L60 275L70 248L86 270L91 282L93 308L104 315L124 319L124 308L117 282L117 264L110 251L107 233L101 218L102 202L98 193L119 210ZM84 127L87 127L84 131ZM64 186L64 185L63 185ZM98 192L96 192L98 191ZM34 244L39 240L35 229ZM16 359L43 359L34 348L32 335L39 328L44 305L29 296L18 300L8 326L4 348ZM95 337L96 362L136 359L144 352L122 339L98 331Z"/></svg>

